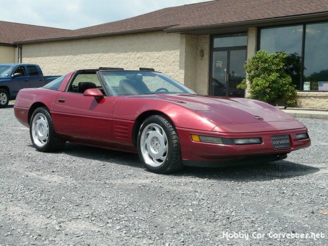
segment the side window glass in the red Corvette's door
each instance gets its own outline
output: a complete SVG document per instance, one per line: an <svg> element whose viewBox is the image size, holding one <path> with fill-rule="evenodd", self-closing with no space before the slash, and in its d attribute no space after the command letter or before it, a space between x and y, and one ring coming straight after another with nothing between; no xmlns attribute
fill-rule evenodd
<svg viewBox="0 0 328 246"><path fill-rule="evenodd" d="M95 73L81 73L78 74L68 88L68 92L83 94L86 90L98 88L104 93L103 87Z"/></svg>

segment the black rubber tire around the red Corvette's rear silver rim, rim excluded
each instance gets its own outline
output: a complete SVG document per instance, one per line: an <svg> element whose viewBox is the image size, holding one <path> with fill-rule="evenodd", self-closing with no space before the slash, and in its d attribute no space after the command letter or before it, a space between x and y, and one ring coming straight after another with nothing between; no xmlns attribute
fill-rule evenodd
<svg viewBox="0 0 328 246"><path fill-rule="evenodd" d="M33 119L38 113L43 114L47 118L48 126L49 126L48 139L46 141L46 144L42 147L38 146L35 143L35 141L33 139L33 135L32 135ZM50 112L46 107L40 107L40 108L37 108L36 110L34 110L32 116L31 116L31 119L30 119L30 137L31 137L31 141L32 141L32 144L35 147L35 149L38 151L41 151L41 152L52 152L52 151L62 150L66 144L66 141L64 139L62 139L61 137L59 137L55 133Z"/></svg>

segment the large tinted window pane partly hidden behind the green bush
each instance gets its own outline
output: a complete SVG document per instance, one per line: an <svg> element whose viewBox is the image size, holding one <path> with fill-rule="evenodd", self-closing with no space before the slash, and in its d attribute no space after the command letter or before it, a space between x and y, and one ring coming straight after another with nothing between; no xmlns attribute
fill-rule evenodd
<svg viewBox="0 0 328 246"><path fill-rule="evenodd" d="M262 28L260 50L269 53L286 52L286 71L291 75L293 84L299 89L301 74L303 26Z"/></svg>

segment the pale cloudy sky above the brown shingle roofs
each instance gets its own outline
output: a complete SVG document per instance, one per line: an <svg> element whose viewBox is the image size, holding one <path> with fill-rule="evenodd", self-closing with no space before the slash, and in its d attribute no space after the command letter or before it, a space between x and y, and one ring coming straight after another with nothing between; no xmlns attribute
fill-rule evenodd
<svg viewBox="0 0 328 246"><path fill-rule="evenodd" d="M0 0L0 20L78 29L208 0Z"/></svg>

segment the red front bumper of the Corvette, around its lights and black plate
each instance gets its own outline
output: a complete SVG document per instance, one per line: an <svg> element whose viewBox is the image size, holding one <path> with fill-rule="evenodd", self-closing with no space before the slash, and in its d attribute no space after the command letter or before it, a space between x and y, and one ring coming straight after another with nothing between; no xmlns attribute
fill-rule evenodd
<svg viewBox="0 0 328 246"><path fill-rule="evenodd" d="M199 163L197 166L206 166L205 162L224 162L226 161L228 165L231 166L233 163L229 161L243 161L248 159L254 159L256 156L261 156L262 161L264 159L275 160L281 159L284 154L290 153L291 151L309 147L311 145L310 138L298 140L296 134L308 132L306 128L295 129L295 130L284 130L284 131L271 131L271 132L255 132L255 133L220 133L220 132L208 132L199 131L192 129L177 128L177 133L179 136L181 154L183 162L189 166L192 163ZM262 138L261 144L253 145L218 145L209 144L206 142L196 142L191 139L191 135L204 135L212 137L222 137L222 138L252 138L260 137ZM271 136L277 135L289 135L290 136L290 149L274 150ZM269 160L271 161L271 160ZM202 165L203 163L203 165Z"/></svg>

